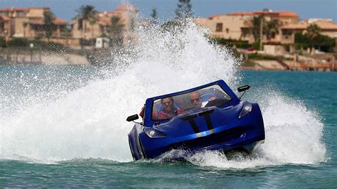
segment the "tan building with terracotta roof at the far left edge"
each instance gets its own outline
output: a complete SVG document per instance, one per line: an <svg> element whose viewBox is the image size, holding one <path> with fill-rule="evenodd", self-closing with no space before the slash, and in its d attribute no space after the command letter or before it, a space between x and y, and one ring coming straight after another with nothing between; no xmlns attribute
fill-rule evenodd
<svg viewBox="0 0 337 189"><path fill-rule="evenodd" d="M0 36L10 38L43 38L46 36L43 13L50 11L47 7L5 8L0 9ZM53 38L67 36L65 28L68 21L55 18L56 31Z"/></svg>

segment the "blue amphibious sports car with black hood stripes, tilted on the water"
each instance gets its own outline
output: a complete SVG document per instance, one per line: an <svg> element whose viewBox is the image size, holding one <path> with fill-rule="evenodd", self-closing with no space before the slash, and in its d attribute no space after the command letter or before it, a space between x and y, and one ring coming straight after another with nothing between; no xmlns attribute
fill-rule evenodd
<svg viewBox="0 0 337 189"><path fill-rule="evenodd" d="M134 161L173 149L191 155L204 150L251 152L264 140L259 105L241 101L223 80L146 99L141 116L128 135ZM138 118L134 114L127 121Z"/></svg>

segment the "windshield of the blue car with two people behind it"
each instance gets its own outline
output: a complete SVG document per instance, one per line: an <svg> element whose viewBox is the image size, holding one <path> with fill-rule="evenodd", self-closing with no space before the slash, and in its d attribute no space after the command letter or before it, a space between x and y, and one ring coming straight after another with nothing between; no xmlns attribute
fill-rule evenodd
<svg viewBox="0 0 337 189"><path fill-rule="evenodd" d="M167 120L203 107L220 107L231 99L219 85L211 85L200 90L154 100L151 119Z"/></svg>

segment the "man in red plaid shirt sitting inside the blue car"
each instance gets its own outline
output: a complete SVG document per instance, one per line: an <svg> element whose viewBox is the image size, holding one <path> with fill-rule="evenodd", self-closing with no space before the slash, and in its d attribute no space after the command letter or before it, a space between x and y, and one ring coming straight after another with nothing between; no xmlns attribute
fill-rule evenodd
<svg viewBox="0 0 337 189"><path fill-rule="evenodd" d="M170 119L178 114L183 114L183 109L176 109L173 107L173 97L166 97L161 99L161 105L164 107L164 110L154 112L152 119L163 120Z"/></svg>

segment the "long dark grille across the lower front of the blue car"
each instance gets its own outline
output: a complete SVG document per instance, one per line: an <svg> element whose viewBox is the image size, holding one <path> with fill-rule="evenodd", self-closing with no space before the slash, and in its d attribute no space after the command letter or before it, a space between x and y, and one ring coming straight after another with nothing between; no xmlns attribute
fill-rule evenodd
<svg viewBox="0 0 337 189"><path fill-rule="evenodd" d="M215 144L222 144L227 141L232 141L233 139L238 139L243 134L240 126L232 129L221 131L219 133L210 134L208 136L199 137L196 139L191 139L188 141L179 142L172 144L170 149L183 149L183 150L194 150L196 148L205 148L208 146L213 146Z"/></svg>

